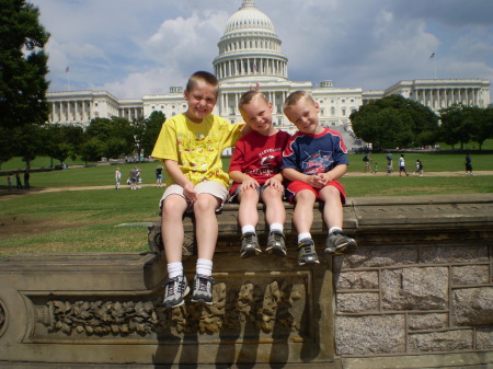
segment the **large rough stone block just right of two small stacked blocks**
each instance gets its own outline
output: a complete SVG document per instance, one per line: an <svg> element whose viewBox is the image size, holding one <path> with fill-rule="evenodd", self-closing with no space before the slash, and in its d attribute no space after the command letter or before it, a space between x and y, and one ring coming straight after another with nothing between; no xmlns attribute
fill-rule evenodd
<svg viewBox="0 0 493 369"><path fill-rule="evenodd" d="M437 310L448 302L448 269L423 267L381 272L383 310Z"/></svg>

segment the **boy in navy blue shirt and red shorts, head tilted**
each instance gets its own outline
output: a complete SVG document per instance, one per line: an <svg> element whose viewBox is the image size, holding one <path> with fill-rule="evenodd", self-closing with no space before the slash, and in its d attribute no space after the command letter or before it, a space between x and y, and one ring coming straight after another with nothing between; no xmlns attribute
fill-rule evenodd
<svg viewBox="0 0 493 369"><path fill-rule="evenodd" d="M323 220L329 228L325 253L354 252L356 241L342 231L346 199L341 178L348 165L347 150L341 135L319 125L319 104L305 91L291 93L283 111L298 128L283 153L283 176L290 181L287 195L296 203L293 221L298 231L298 264L319 263L310 229L313 205L325 203Z"/></svg>

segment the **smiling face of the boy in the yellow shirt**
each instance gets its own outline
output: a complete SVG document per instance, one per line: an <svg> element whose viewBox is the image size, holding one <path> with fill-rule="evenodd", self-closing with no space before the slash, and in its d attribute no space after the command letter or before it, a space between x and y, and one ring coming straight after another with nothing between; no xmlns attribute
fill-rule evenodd
<svg viewBox="0 0 493 369"><path fill-rule="evenodd" d="M205 116L213 113L217 102L217 88L205 81L197 81L192 90L185 90L184 97L188 103L186 116L192 122L200 123Z"/></svg>

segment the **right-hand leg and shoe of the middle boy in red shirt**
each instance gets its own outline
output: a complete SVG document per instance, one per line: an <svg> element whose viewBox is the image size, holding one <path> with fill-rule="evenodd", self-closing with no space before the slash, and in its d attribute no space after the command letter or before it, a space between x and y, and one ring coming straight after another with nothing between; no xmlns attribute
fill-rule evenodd
<svg viewBox="0 0 493 369"><path fill-rule="evenodd" d="M270 226L266 252L285 256L286 239L284 237L284 222L286 221L286 209L283 204L283 194L273 188L266 187L262 193L262 200L265 204L265 219Z"/></svg>

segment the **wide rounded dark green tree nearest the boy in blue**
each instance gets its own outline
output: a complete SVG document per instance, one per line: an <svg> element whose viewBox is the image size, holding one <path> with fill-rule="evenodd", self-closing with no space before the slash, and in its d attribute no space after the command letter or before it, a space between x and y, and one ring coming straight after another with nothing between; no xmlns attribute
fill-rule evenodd
<svg viewBox="0 0 493 369"><path fill-rule="evenodd" d="M401 95L362 105L349 119L356 136L380 149L432 145L438 134L438 116Z"/></svg>

